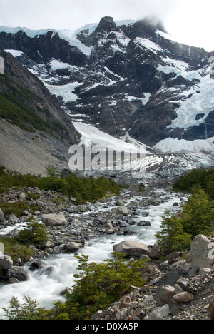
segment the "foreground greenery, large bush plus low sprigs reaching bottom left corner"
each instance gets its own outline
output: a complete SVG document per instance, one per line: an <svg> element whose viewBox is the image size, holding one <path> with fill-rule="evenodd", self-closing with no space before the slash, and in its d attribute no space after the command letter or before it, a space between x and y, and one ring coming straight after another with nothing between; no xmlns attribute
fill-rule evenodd
<svg viewBox="0 0 214 334"><path fill-rule="evenodd" d="M76 255L80 273L75 275L78 280L66 293L65 303L58 301L52 310L45 310L29 297L24 298L23 305L13 297L10 308L4 308L6 316L9 320L91 320L98 310L131 292L133 285L142 287L146 283L139 270L145 266L143 261L126 265L122 254L112 254L113 258L103 263L89 263L88 256Z"/></svg>

